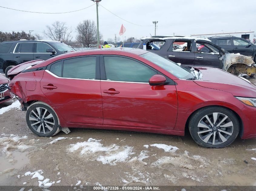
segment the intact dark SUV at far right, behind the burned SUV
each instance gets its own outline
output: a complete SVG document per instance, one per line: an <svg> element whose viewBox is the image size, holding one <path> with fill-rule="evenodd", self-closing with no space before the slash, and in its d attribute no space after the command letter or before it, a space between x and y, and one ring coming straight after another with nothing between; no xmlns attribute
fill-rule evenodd
<svg viewBox="0 0 256 191"><path fill-rule="evenodd" d="M250 43L244 38L225 36L225 37L209 37L209 40L224 48L229 53L240 53L244 56L251 56L256 61L256 45Z"/></svg>

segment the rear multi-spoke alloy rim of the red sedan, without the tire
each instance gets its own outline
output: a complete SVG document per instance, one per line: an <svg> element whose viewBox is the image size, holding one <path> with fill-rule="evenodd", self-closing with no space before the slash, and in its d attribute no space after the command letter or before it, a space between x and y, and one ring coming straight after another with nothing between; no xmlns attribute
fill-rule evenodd
<svg viewBox="0 0 256 191"><path fill-rule="evenodd" d="M43 107L36 107L30 112L29 122L35 131L43 134L51 132L55 126L52 113Z"/></svg>

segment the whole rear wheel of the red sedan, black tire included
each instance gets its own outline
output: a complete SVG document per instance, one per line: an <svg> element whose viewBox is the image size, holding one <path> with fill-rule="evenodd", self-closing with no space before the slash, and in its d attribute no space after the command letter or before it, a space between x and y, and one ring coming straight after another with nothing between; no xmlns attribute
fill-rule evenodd
<svg viewBox="0 0 256 191"><path fill-rule="evenodd" d="M57 114L52 107L41 101L29 106L26 122L28 128L39 137L50 137L60 131Z"/></svg>

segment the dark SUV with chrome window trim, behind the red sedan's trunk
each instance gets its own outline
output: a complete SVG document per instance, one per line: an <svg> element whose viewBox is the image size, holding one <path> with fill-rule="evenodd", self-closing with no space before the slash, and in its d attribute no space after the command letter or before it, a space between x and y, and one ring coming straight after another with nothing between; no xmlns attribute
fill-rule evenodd
<svg viewBox="0 0 256 191"><path fill-rule="evenodd" d="M15 65L31 60L47 60L54 56L75 51L60 41L17 40L0 43L0 68L5 75Z"/></svg>

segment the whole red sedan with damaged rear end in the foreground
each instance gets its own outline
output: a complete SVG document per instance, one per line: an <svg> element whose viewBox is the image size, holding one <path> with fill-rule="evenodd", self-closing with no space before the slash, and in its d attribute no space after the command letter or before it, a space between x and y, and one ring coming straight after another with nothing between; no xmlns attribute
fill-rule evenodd
<svg viewBox="0 0 256 191"><path fill-rule="evenodd" d="M256 87L217 68L188 70L141 49L72 52L12 68L29 129L68 127L184 135L222 148L256 137Z"/></svg>

